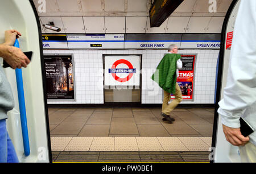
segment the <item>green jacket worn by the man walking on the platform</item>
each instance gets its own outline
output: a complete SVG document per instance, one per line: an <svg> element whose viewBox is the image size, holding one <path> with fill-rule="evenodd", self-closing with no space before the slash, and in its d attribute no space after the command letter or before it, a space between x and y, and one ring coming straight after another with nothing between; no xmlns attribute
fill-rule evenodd
<svg viewBox="0 0 256 174"><path fill-rule="evenodd" d="M178 54L168 53L160 61L156 72L152 75L152 80L158 83L158 85L170 94L175 94L175 86L177 81L176 75L176 62L181 59ZM158 76L158 77L157 77Z"/></svg>

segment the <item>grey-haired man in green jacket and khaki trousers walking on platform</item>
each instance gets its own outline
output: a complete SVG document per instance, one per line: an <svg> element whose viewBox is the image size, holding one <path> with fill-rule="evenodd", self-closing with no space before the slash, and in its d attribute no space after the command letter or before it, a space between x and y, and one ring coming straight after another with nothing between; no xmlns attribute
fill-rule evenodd
<svg viewBox="0 0 256 174"><path fill-rule="evenodd" d="M152 75L152 80L164 90L162 113L163 121L175 121L170 117L170 113L182 101L182 94L180 86L177 84L177 77L179 77L179 69L182 68L181 56L177 54L178 49L175 44L168 47L168 53L160 61L156 71ZM158 74L158 75L157 75ZM171 95L174 94L175 100L170 104Z"/></svg>

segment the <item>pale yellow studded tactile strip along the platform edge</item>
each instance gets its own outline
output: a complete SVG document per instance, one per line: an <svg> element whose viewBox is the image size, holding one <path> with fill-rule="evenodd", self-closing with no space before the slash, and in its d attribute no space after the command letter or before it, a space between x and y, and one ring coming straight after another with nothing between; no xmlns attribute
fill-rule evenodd
<svg viewBox="0 0 256 174"><path fill-rule="evenodd" d="M52 151L209 151L211 137L51 137Z"/></svg>

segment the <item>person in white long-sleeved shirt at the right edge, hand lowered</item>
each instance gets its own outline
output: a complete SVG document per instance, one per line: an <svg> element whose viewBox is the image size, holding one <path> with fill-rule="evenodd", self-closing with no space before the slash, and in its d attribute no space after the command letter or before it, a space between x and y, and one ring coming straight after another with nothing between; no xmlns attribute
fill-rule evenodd
<svg viewBox="0 0 256 174"><path fill-rule="evenodd" d="M256 130L256 1L242 0L234 27L228 81L218 103L229 143L240 147L242 162L256 162L256 132L244 137L240 117Z"/></svg>

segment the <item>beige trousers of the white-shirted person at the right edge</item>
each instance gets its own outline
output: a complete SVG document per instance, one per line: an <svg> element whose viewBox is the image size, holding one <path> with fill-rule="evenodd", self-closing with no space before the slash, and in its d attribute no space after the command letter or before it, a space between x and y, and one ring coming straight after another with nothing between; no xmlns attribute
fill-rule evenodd
<svg viewBox="0 0 256 174"><path fill-rule="evenodd" d="M256 163L256 146L253 143L246 143L239 147L242 163Z"/></svg>

